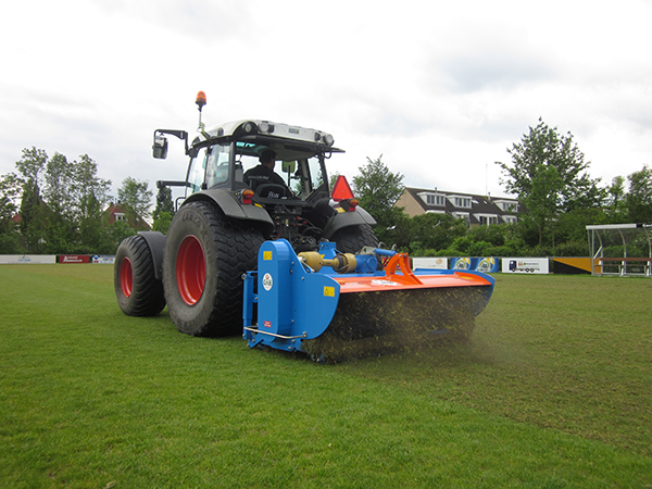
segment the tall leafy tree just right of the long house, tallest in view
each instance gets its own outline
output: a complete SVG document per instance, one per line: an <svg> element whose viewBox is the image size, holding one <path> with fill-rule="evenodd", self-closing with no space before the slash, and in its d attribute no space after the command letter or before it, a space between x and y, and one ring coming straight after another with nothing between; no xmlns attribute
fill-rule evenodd
<svg viewBox="0 0 652 489"><path fill-rule="evenodd" d="M496 162L504 175L501 184L518 196L527 211L524 220L537 229L539 244L544 236L554 244L554 223L561 213L601 205L605 192L598 187L600 179L588 176L589 163L570 133L560 135L539 118L507 153L511 163Z"/></svg>

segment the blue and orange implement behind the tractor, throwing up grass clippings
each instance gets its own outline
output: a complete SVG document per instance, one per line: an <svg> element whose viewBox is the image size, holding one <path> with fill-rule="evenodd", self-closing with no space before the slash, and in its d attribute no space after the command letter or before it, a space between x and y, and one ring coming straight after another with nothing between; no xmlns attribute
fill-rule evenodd
<svg viewBox="0 0 652 489"><path fill-rule="evenodd" d="M285 239L265 241L244 276L243 338L326 361L422 348L434 336L463 341L493 284L479 272L413 272L408 254L390 250L342 255L321 243L297 255Z"/></svg>

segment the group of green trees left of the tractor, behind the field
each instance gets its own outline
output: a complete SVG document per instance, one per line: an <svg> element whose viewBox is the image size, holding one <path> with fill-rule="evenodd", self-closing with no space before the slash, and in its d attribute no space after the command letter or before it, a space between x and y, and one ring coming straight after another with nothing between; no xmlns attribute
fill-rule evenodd
<svg viewBox="0 0 652 489"><path fill-rule="evenodd" d="M113 254L136 233L134 217L150 215L147 181L125 178L115 198L88 154L71 161L26 148L15 167L0 176L0 254ZM127 216L109 225L111 202Z"/></svg>

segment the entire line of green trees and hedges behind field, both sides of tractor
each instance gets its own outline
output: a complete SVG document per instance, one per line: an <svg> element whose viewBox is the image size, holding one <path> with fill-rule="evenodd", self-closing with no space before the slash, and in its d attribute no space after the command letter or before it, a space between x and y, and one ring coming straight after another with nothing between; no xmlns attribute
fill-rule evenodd
<svg viewBox="0 0 652 489"><path fill-rule="evenodd" d="M516 196L515 224L469 228L448 214L408 216L396 205L403 175L392 173L383 155L359 167L352 178L360 205L377 221L376 236L386 247L422 256L586 256L586 225L652 223L652 170L647 165L610 185L591 178L590 162L574 141L542 120L507 149L510 161L497 162L505 192ZM0 254L113 254L137 233L134 216L151 218L166 233L174 204L163 188L152 212L147 181L123 180L116 197L111 180L98 176L87 154L77 160L40 149L24 149L16 172L0 176ZM108 224L105 210L118 202L127 218ZM15 216L20 215L20 223Z"/></svg>

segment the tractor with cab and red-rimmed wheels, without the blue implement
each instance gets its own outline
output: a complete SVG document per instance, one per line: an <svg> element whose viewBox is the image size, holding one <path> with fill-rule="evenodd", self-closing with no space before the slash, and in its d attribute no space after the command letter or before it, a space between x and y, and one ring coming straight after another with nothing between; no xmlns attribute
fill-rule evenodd
<svg viewBox="0 0 652 489"><path fill-rule="evenodd" d="M376 222L342 176L329 188L326 160L343 152L330 134L269 121L206 128L203 92L197 104L199 136L191 143L184 130L154 131L154 158L167 155L165 135L181 139L190 158L185 180L156 186L161 191L180 186L186 195L167 235L139 233L120 244L115 294L128 315L155 315L167 304L183 333L237 335L242 275L256 268L263 241L284 238L301 252L328 240L355 253L378 246ZM275 165L280 175L269 173Z"/></svg>

